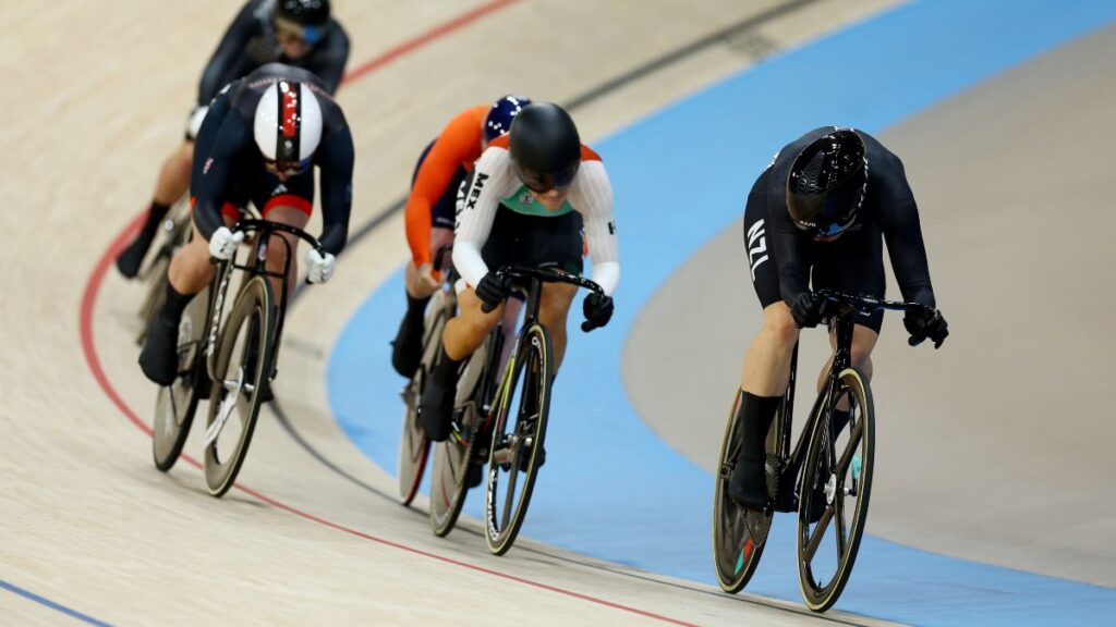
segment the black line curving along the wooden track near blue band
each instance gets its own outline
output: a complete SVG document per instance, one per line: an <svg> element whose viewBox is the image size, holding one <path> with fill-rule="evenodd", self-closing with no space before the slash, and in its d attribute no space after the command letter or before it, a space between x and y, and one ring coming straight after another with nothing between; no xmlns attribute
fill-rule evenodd
<svg viewBox="0 0 1116 627"><path fill-rule="evenodd" d="M596 102L596 100L598 100L598 99L607 96L608 94L610 94L610 93L613 93L613 91L615 91L615 90L617 90L617 89L619 89L622 87L625 87L627 85L636 83L636 81L638 81L638 80L641 80L641 79L643 79L643 78L645 78L645 77L647 77L647 76L650 76L652 74L655 74L656 71L660 71L660 70L662 70L662 69L664 69L666 67L670 67L670 66L672 66L672 65L674 65L674 64L676 64L679 61L682 61L682 60L686 59L687 57L691 57L691 56L693 56L693 55L695 55L695 54L698 54L698 52L700 52L702 50L705 50L705 49L708 49L710 47L713 47L713 46L716 46L716 45L719 45L721 42L724 42L725 40L730 39L732 36L738 35L741 31L749 30L751 28L761 26L761 25L763 25L766 22L769 22L769 21L771 21L773 19L777 19L777 18L780 18L780 17L786 16L788 13L791 13L791 12L798 10L798 9L804 8L804 7L808 7L810 4L815 4L815 3L819 2L819 1L821 1L821 0L793 0L791 2L787 2L787 3L783 3L783 4L779 4L779 6L772 7L771 9L768 9L767 11L763 11L763 12L758 13L756 16L749 17L747 19L740 20L740 21L738 21L735 23L732 23L732 25L730 25L730 26L721 29L721 30L718 30L715 32L712 32L712 33L705 36L705 37L702 37L701 39L698 39L698 40L695 40L695 41L693 41L691 44L687 44L687 45L683 46L682 48L677 48L677 49L672 50L672 51L670 51L670 52L667 52L665 55L656 57L655 59L652 59L651 61L647 61L646 64L637 66L637 67L635 67L635 68L633 68L633 69L624 73L623 75L617 76L616 78L607 80L607 81L605 81L605 83L603 83L603 84L600 84L600 85L598 85L596 87L593 87L593 88L584 91L583 94L580 94L578 96L575 96L574 98L569 99L565 104L565 107L567 109L569 109L569 110L576 110L576 109L579 109L581 107L585 107L585 106L587 106L587 105L589 105L589 104L591 104L591 103L594 103L594 102ZM379 213L377 213L376 215L374 215L368 222L362 224L352 234L352 237L348 239L348 243L353 244L353 243L356 243L356 242L363 240L364 238L366 238L367 235L369 235L373 231L375 231L376 229L378 229L384 222L386 222L393 215L395 215L400 211L403 211L403 208L406 205L406 200L407 200L406 195L403 195L402 197L396 199L391 204L388 204L386 208L384 208ZM288 306L292 305L304 293L306 287L307 287L306 283L299 283L299 286L295 289L295 292L291 295L290 302L288 303ZM359 478L353 476L352 474L349 474L348 472L346 472L344 469L341 469L337 464L333 463L326 455L324 455L317 448L315 448L314 445L311 445L306 438L304 438L302 435L295 428L295 425L291 423L291 421L287 416L286 412L283 412L282 404L280 403L278 396L276 396L276 398L271 403L269 403L267 406L271 409L271 413L275 414L276 418L278 418L279 424L282 426L283 431L286 431L287 434L300 447L302 447L302 450L305 450L311 457L314 457L319 463L321 463L321 465L324 465L325 467L329 469L331 472L334 472L338 476L341 476L343 479L345 479L349 483L353 483L357 488L364 490L365 492L368 492L369 494L374 494L374 495L376 495L376 496L378 496L381 499L384 499L385 501L389 501L392 503L398 504L398 499L396 496L387 494L387 493L383 492L382 490L376 489L375 486L373 486L369 483L360 480ZM405 509L407 511L410 511L410 512L413 512L416 517L424 517L425 515L425 512L422 512L422 511L416 510L414 508L405 508ZM456 529L460 530L460 531L462 531L462 532L464 532L464 533L469 533L471 536L474 536L477 538L481 537L481 533L479 531L473 530L473 529L469 529L466 527L458 527ZM570 558L570 557L566 557L566 556L559 556L559 554L550 553L550 552L542 551L542 550L539 550L539 549L533 549L533 548L530 548L530 547L517 547L516 550L519 551L519 552L533 553L533 554L546 557L546 558L549 558L549 559L552 559L552 560L562 561L562 562L570 563L570 565L576 565L576 566L580 566L583 568L590 569L590 570L597 570L597 571L608 572L608 573L612 573L612 575L618 575L618 576L627 577L627 578L631 578L631 579L638 579L641 581L646 581L648 583L656 583L656 585L660 585L660 586L666 586L666 587L675 588L675 589L680 589L680 590L687 590L687 591L691 591L691 592L698 592L698 594L701 594L701 595L716 597L719 599L735 600L735 601L742 602L742 604L748 604L748 605L764 607L764 608L768 608L768 609L775 609L775 610L785 611L785 612L788 612L788 614L795 614L795 615L798 615L798 616L809 617L809 618L812 618L812 619L824 620L824 621L827 621L827 623L834 623L834 624L837 624L837 625L853 625L853 626L864 625L862 623L855 623L853 620L848 620L848 619L844 619L844 618L837 618L837 617L826 616L826 615L818 615L818 614L814 614L814 612L810 612L810 611L807 611L807 610L800 610L800 609L796 609L796 608L783 607L783 606L777 605L777 604L764 602L762 600L757 600L757 599L751 599L751 598L745 598L745 597L729 596L729 595L727 595L724 592L721 592L721 591L718 591L718 590L699 588L699 587L695 587L695 586L686 586L684 583L676 583L676 582L673 582L673 581L663 581L662 579L656 579L655 577L652 577L650 575L642 575L639 572L633 572L633 571L626 571L626 570L618 570L618 569L609 568L607 566L602 566L599 563L591 563L591 562L587 562L587 561L574 559L574 558Z"/></svg>

